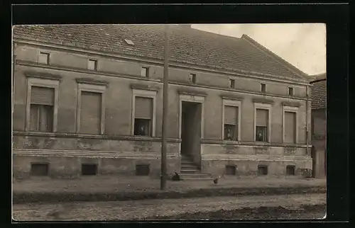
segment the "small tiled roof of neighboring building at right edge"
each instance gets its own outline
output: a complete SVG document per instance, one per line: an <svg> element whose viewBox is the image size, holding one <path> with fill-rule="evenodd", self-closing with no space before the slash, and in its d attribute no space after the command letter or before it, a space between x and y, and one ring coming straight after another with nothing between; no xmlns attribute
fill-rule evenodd
<svg viewBox="0 0 355 228"><path fill-rule="evenodd" d="M317 74L311 82L312 109L327 107L327 74Z"/></svg>

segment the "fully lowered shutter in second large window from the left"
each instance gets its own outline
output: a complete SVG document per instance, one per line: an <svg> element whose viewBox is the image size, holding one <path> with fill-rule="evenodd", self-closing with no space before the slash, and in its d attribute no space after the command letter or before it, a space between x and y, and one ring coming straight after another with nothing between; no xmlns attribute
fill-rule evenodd
<svg viewBox="0 0 355 228"><path fill-rule="evenodd" d="M80 133L101 133L102 93L82 91L80 107Z"/></svg>

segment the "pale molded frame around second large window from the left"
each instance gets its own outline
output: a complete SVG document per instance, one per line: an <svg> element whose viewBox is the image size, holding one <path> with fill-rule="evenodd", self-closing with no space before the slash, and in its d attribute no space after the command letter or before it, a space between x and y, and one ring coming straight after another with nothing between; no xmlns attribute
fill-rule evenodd
<svg viewBox="0 0 355 228"><path fill-rule="evenodd" d="M107 86L101 84L93 84L85 81L77 82L77 124L75 132L77 134L80 133L80 118L81 118L81 101L82 101L82 91L93 92L93 93L101 93L101 135L104 135L105 132L105 92Z"/></svg>

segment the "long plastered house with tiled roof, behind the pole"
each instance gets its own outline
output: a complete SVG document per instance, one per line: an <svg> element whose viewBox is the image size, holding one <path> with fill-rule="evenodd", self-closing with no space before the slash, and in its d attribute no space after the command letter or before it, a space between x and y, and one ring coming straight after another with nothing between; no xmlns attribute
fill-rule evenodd
<svg viewBox="0 0 355 228"><path fill-rule="evenodd" d="M170 26L168 173L308 176L310 84L246 35ZM160 176L160 25L13 29L13 175Z"/></svg>

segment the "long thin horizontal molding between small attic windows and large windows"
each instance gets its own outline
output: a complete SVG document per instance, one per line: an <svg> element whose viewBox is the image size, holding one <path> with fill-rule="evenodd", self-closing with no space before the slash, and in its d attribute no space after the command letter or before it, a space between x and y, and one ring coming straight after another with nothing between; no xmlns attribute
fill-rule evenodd
<svg viewBox="0 0 355 228"><path fill-rule="evenodd" d="M57 69L57 70L65 70L65 71L69 71L69 72L80 72L80 73L84 73L84 74L93 74L93 75L103 75L103 76L112 76L112 77L121 77L124 79L133 79L133 80L137 80L137 81L154 81L160 84L163 84L163 80L162 79L150 79L150 78L142 78L139 77L137 75L131 75L131 74L116 74L113 72L93 72L93 71L89 71L87 69L74 69L74 68L69 68L69 67L61 67L61 66L53 66L53 65L43 65L43 64L38 64L35 62L26 62L26 61L21 61L21 60L17 60L16 62L18 62L18 64L21 65L25 65L25 66L30 66L30 67L41 67L41 68L46 68L46 69ZM178 85L178 86L186 86L186 87L191 87L190 84L187 83L180 83L180 82L173 82L173 81L169 81L169 85ZM293 99L293 100L300 100L300 101L307 101L307 97L293 97L290 98L289 96L282 96L282 95L277 95L277 94L265 94L265 93L261 93L258 91L242 91L242 90L238 90L238 89L228 89L228 88L224 88L224 87L217 87L217 86L203 86L203 85L195 85L195 88L201 88L201 89L214 89L217 91L228 91L231 93L245 93L245 94L252 94L252 95L262 95L262 96L268 96L271 98L288 98L288 99Z"/></svg>

